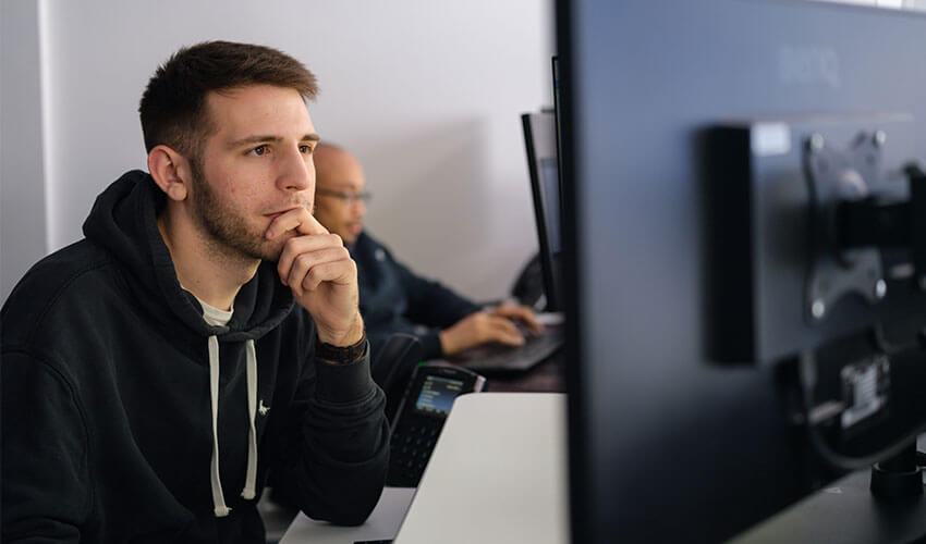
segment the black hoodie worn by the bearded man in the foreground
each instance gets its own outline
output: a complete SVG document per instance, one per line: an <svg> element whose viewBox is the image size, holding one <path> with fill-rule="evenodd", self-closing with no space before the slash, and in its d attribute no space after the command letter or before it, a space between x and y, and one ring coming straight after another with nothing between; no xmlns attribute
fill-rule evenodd
<svg viewBox="0 0 926 544"><path fill-rule="evenodd" d="M97 198L86 238L39 261L3 306L2 541L263 543L256 498L241 496L249 456L257 497L272 472L310 517L362 522L388 462L369 355L316 359L312 318L269 262L228 326L207 325L158 232L163 206L148 174L126 173Z"/></svg>

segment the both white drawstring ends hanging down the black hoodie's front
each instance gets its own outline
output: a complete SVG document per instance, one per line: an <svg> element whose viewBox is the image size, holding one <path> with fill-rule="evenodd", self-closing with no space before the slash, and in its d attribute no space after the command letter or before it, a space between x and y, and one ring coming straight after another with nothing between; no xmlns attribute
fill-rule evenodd
<svg viewBox="0 0 926 544"><path fill-rule="evenodd" d="M247 431L247 473L244 481L244 490L241 496L244 498L254 498L257 480L257 430L254 426L254 418L257 412L257 353L254 348L254 341L248 339L245 343L246 353L246 370L247 370L247 418L251 423ZM219 473L219 339L212 335L209 336L209 395L212 405L212 462L211 462L211 484L212 484L212 505L217 518L228 516L231 508L226 505L226 498L222 494L222 481Z"/></svg>

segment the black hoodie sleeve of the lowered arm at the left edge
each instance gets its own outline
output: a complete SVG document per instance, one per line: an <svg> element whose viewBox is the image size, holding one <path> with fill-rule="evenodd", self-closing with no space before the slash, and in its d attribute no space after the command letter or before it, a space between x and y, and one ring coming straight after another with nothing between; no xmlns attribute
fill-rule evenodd
<svg viewBox="0 0 926 544"><path fill-rule="evenodd" d="M78 542L89 510L86 426L71 387L24 353L2 361L2 542Z"/></svg>

